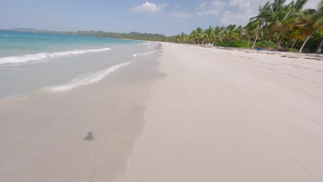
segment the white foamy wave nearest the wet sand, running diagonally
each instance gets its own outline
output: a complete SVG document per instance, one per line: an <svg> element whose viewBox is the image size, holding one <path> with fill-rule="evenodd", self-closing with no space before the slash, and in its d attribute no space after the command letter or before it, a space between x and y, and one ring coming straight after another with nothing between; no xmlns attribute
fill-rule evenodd
<svg viewBox="0 0 323 182"><path fill-rule="evenodd" d="M80 77L77 77L75 79L72 79L72 81L69 81L66 84L58 85L50 88L46 88L46 90L50 90L51 92L65 92L68 90L71 90L72 88L77 88L84 85L90 85L91 83L97 83L101 79L104 79L108 74L111 72L115 72L119 70L119 68L128 65L132 63L133 61L128 61L126 63L120 63L118 65L113 65L109 68L106 68L104 70L99 70L98 72L92 72Z"/></svg>

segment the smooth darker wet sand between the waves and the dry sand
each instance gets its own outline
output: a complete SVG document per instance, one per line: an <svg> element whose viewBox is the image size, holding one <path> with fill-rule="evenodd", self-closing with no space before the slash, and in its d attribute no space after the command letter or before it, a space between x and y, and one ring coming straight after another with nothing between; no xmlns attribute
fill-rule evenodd
<svg viewBox="0 0 323 182"><path fill-rule="evenodd" d="M135 61L99 83L1 100L0 181L124 179L157 68Z"/></svg>

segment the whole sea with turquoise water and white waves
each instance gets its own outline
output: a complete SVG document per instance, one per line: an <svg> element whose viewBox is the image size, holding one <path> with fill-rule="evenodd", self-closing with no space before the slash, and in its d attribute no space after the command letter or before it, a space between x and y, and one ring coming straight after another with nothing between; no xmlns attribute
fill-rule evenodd
<svg viewBox="0 0 323 182"><path fill-rule="evenodd" d="M97 83L135 61L156 59L149 41L0 31L0 99Z"/></svg>

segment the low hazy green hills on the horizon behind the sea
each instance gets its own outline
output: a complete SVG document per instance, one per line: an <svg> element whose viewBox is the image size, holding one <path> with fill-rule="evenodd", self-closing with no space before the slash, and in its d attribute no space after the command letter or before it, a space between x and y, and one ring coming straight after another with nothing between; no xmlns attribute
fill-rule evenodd
<svg viewBox="0 0 323 182"><path fill-rule="evenodd" d="M130 33L116 33L116 32L104 32L104 31L77 31L77 32L59 32L52 30L37 30L35 28L11 28L9 31L17 32L35 32L35 33L50 33L50 34L69 34L77 36L87 36L87 37L106 37L115 39L135 39L135 40L145 40L145 41L170 41L168 37L164 34L147 34L139 32Z"/></svg>

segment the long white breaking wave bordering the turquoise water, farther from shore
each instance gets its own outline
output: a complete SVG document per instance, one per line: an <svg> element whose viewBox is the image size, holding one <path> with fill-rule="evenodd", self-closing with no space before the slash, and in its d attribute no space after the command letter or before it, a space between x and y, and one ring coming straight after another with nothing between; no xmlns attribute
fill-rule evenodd
<svg viewBox="0 0 323 182"><path fill-rule="evenodd" d="M0 65L7 63L25 63L29 61L39 61L42 59L48 59L53 57L62 57L71 54L84 54L88 52L102 52L108 51L111 48L101 48L101 49L89 49L89 50L71 50L71 51L63 51L63 52L41 52L37 54L26 54L21 56L14 57L0 57Z"/></svg>

